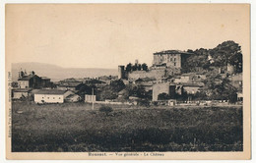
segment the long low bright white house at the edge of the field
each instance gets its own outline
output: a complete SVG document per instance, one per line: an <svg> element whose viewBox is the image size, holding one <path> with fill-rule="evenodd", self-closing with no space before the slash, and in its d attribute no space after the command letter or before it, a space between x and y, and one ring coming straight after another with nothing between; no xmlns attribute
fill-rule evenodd
<svg viewBox="0 0 256 163"><path fill-rule="evenodd" d="M64 99L72 94L69 90L40 89L34 93L35 103L63 103Z"/></svg>

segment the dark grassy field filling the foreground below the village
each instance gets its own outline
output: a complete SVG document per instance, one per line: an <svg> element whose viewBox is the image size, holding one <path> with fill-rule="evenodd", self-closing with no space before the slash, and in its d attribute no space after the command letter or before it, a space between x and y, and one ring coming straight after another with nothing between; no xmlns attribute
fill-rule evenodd
<svg viewBox="0 0 256 163"><path fill-rule="evenodd" d="M12 103L12 151L241 151L241 107ZM22 112L22 113L21 113Z"/></svg>

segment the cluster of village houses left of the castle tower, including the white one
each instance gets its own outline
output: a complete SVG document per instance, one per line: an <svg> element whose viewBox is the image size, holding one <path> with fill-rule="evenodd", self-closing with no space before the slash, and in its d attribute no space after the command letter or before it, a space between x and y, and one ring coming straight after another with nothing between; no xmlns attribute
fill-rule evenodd
<svg viewBox="0 0 256 163"><path fill-rule="evenodd" d="M115 77L103 78L111 81ZM50 79L39 77L32 72L27 75L19 72L18 85L12 89L12 98L30 99L35 103L63 103L77 102L84 99L84 94L91 93L90 86L100 88L107 83L99 79L66 79L63 81L51 82Z"/></svg>

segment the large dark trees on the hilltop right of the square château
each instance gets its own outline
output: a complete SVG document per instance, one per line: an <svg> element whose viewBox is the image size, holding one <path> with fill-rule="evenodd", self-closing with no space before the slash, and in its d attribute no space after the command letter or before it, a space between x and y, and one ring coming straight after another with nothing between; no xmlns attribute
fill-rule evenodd
<svg viewBox="0 0 256 163"><path fill-rule="evenodd" d="M209 71L211 67L222 68L227 64L233 66L236 73L242 72L241 46L232 40L224 41L213 49L188 49L187 52L193 55L184 64L183 71L186 73L196 72L198 67Z"/></svg>

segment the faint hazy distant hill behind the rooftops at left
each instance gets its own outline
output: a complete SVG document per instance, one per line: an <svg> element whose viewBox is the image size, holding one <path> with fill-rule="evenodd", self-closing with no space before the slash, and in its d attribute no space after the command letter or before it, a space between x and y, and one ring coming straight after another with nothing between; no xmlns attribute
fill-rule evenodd
<svg viewBox="0 0 256 163"><path fill-rule="evenodd" d="M43 63L14 63L12 64L12 80L18 80L18 72L21 68L27 73L34 72L40 77L50 78L51 81L60 81L68 78L96 78L99 76L117 76L117 69L94 68L62 68Z"/></svg>

